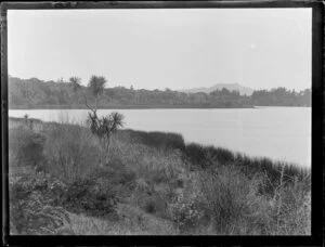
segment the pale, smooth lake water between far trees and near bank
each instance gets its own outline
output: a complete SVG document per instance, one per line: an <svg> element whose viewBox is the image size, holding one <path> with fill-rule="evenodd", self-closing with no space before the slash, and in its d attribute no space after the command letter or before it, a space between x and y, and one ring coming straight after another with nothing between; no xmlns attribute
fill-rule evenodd
<svg viewBox="0 0 325 247"><path fill-rule="evenodd" d="M84 120L87 109L11 109L9 116L46 121ZM311 108L257 107L242 109L100 109L99 115L119 112L125 128L169 131L186 142L212 144L250 156L311 166Z"/></svg>

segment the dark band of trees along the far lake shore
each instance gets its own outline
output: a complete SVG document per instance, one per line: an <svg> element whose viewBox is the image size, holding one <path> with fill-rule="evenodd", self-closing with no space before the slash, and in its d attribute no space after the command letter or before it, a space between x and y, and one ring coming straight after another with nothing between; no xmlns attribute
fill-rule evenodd
<svg viewBox="0 0 325 247"><path fill-rule="evenodd" d="M42 81L37 78L9 78L10 108L83 108L84 95L89 103L94 98L81 87L79 93L74 92L67 81ZM101 108L221 108L261 106L310 106L311 90L300 92L286 88L253 91L251 96L240 95L238 91L225 88L211 93L184 93L166 90L130 89L125 87L106 88L98 102Z"/></svg>

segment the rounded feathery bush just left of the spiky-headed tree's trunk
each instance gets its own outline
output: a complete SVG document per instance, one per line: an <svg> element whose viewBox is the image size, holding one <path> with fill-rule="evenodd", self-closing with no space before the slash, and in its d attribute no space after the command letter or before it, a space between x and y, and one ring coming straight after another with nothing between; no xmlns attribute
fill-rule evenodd
<svg viewBox="0 0 325 247"><path fill-rule="evenodd" d="M90 130L58 123L48 130L44 145L49 172L74 182L87 178L100 166L100 147Z"/></svg>

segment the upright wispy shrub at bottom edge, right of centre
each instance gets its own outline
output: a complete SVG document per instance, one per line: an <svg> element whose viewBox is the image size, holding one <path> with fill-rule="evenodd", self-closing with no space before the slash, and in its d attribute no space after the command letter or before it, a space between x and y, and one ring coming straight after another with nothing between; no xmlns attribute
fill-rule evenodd
<svg viewBox="0 0 325 247"><path fill-rule="evenodd" d="M203 171L199 179L206 213L213 219L217 233L232 233L232 227L249 213L250 181L230 166Z"/></svg>

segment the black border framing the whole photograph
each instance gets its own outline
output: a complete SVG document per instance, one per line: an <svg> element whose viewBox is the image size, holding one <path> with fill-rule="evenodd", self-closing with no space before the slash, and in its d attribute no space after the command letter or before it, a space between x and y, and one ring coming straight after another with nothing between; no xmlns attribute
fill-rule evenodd
<svg viewBox="0 0 325 247"><path fill-rule="evenodd" d="M311 8L312 9L312 231L311 236L11 236L8 178L8 10L47 9L192 9L192 8ZM4 246L323 246L324 238L324 2L322 0L256 1L103 1L1 3L1 144L2 244Z"/></svg>

